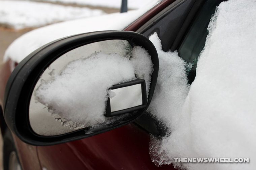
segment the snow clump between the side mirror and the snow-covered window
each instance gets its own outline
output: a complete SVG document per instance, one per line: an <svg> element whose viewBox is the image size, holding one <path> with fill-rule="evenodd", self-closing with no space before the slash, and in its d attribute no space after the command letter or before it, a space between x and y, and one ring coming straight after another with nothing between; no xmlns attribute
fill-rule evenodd
<svg viewBox="0 0 256 170"><path fill-rule="evenodd" d="M171 121L179 117L190 87L187 83L186 62L179 57L176 51L162 51L157 33L149 39L157 49L159 71L154 97L148 111L159 121L173 128L178 122Z"/></svg>

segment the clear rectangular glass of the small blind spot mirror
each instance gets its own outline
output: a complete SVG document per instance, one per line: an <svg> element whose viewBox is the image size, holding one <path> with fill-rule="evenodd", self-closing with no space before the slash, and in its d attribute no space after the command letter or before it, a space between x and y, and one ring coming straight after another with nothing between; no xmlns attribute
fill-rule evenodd
<svg viewBox="0 0 256 170"><path fill-rule="evenodd" d="M141 85L122 87L109 90L110 109L116 112L142 105Z"/></svg>

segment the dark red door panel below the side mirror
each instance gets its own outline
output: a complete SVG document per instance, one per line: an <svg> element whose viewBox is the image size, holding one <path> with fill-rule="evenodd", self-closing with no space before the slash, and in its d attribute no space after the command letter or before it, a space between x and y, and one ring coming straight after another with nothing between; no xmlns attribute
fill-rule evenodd
<svg viewBox="0 0 256 170"><path fill-rule="evenodd" d="M134 124L54 146L38 146L42 167L68 169L173 169L157 167L149 155L150 136Z"/></svg>

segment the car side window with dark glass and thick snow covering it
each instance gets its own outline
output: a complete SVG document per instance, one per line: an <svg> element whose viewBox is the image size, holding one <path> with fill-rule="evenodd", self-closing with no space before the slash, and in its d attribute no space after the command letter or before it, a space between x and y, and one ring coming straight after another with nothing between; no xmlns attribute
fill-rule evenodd
<svg viewBox="0 0 256 170"><path fill-rule="evenodd" d="M151 158L158 166L188 170L255 169L256 1L203 5L179 53L163 52L157 34L150 37L158 50L159 75L149 111L168 128L160 140L152 137ZM191 85L186 61L196 67ZM235 158L250 161L232 163Z"/></svg>

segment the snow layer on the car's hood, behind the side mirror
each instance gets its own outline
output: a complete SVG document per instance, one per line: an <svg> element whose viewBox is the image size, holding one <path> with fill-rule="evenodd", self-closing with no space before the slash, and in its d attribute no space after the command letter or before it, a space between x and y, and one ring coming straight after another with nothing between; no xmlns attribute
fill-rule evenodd
<svg viewBox="0 0 256 170"><path fill-rule="evenodd" d="M10 44L5 51L4 61L11 59L19 63L37 48L66 36L93 31L123 30L157 3L159 3L159 0L151 1L150 4L143 8L126 13L113 13L69 20L32 30Z"/></svg>

